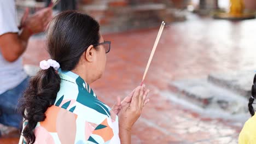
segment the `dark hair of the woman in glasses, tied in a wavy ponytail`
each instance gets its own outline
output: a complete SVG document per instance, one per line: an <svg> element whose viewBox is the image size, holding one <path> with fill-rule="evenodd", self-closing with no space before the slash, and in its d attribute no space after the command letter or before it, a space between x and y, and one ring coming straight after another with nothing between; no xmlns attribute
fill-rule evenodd
<svg viewBox="0 0 256 144"><path fill-rule="evenodd" d="M50 58L59 62L64 71L73 70L88 46L100 40L100 25L92 17L75 11L64 11L51 21L47 31ZM96 48L95 48L96 49ZM60 76L53 67L40 70L30 80L21 113L27 121L22 132L27 144L34 143L34 128L46 118L45 111L54 104L60 90ZM25 113L26 111L26 113Z"/></svg>

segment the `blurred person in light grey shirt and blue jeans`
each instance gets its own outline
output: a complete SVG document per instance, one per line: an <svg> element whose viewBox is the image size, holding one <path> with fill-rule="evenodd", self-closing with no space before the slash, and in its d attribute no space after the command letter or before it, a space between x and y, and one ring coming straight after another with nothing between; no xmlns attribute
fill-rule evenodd
<svg viewBox="0 0 256 144"><path fill-rule="evenodd" d="M22 53L32 34L43 32L52 18L51 8L22 17L20 29L14 0L0 0L0 124L19 128L22 116L18 100L25 91L29 78L22 66ZM0 136L5 132L0 129Z"/></svg>

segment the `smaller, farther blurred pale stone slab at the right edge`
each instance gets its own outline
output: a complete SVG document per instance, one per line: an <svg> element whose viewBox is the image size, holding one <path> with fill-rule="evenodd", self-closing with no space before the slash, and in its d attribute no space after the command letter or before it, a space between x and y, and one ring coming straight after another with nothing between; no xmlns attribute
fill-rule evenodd
<svg viewBox="0 0 256 144"><path fill-rule="evenodd" d="M240 94L243 97L251 97L251 88L255 72L233 71L229 73L217 73L208 76L208 81L219 87L224 87L230 91Z"/></svg>

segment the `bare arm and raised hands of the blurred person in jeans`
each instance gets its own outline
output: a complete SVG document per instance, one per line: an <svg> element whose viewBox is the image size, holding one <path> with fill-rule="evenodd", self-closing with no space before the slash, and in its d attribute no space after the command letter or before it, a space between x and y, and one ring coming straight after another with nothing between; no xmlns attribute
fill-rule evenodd
<svg viewBox="0 0 256 144"><path fill-rule="evenodd" d="M26 11L24 16L27 17L28 13L29 11ZM28 39L31 37L31 35L43 32L45 30L45 27L52 19L51 14L51 8L39 10L37 13L33 14L32 16L28 16L26 20L24 20L24 23L22 23L24 24L24 27L22 28L21 33L18 34L11 31L8 32L7 30L7 32L0 35L0 52L2 53L3 58L8 62L16 61L22 55L22 53L25 52ZM3 23L6 21L2 19L0 22ZM8 25L10 25L10 23L8 23Z"/></svg>

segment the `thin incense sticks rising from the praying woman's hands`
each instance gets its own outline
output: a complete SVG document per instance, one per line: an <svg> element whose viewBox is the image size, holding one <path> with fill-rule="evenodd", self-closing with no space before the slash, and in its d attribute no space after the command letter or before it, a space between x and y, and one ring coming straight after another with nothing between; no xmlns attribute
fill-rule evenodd
<svg viewBox="0 0 256 144"><path fill-rule="evenodd" d="M161 27L159 29L158 35L156 37L155 44L153 46L152 52L151 52L150 57L148 59L148 64L147 64L146 70L144 71L144 75L143 75L143 78L142 78L141 86L143 85L144 79L145 79L145 77L147 75L149 65L150 65L150 63L152 61L152 58L154 56L154 53L155 53L155 50L156 50L156 46L158 46L158 42L159 42L159 39L161 37L161 34L162 34L162 31L163 31L164 27L165 27L165 23L163 21L162 24L161 24Z"/></svg>

